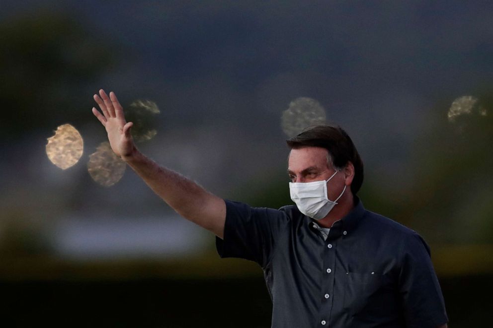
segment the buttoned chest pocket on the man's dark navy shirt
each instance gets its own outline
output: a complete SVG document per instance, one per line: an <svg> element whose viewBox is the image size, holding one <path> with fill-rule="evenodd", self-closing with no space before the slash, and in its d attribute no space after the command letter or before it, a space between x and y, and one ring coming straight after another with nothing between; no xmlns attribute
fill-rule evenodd
<svg viewBox="0 0 493 328"><path fill-rule="evenodd" d="M387 275L375 273L345 274L344 310L354 315L378 315L395 301L395 292Z"/></svg>

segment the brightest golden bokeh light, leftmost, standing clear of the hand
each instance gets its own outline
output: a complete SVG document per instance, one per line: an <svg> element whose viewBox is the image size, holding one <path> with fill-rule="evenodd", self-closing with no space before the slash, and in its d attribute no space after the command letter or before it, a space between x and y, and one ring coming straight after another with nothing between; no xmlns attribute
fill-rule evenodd
<svg viewBox="0 0 493 328"><path fill-rule="evenodd" d="M59 126L55 135L49 137L46 144L48 158L62 170L77 164L81 159L83 149L81 133L70 124Z"/></svg>

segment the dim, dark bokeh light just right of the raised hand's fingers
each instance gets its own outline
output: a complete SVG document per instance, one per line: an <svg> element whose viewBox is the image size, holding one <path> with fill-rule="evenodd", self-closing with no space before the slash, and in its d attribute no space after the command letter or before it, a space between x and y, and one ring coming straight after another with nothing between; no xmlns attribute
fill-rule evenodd
<svg viewBox="0 0 493 328"><path fill-rule="evenodd" d="M135 100L125 111L127 121L133 122L132 136L136 142L151 140L158 131L154 128L154 116L159 114L158 105L151 100Z"/></svg>

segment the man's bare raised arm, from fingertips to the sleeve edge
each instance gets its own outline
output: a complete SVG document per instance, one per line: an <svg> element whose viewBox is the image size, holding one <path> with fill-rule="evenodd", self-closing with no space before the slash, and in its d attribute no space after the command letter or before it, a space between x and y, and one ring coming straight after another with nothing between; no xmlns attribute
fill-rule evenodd
<svg viewBox="0 0 493 328"><path fill-rule="evenodd" d="M115 154L178 214L223 238L226 220L224 200L182 175L159 166L139 152L130 134L133 124L125 121L122 106L113 92L108 97L101 89L99 95L94 95L94 100L102 114L94 107L92 113L106 128Z"/></svg>

